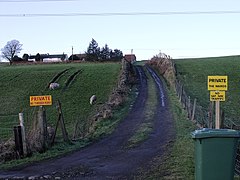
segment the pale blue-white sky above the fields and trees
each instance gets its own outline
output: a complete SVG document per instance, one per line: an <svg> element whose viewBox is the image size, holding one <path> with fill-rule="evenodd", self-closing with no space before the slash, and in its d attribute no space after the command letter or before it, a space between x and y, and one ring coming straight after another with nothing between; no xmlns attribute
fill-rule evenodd
<svg viewBox="0 0 240 180"><path fill-rule="evenodd" d="M120 14L118 14L120 13ZM150 14L153 13L153 14ZM55 15L53 15L55 14ZM0 0L0 49L84 53L94 38L138 60L240 54L239 0Z"/></svg>

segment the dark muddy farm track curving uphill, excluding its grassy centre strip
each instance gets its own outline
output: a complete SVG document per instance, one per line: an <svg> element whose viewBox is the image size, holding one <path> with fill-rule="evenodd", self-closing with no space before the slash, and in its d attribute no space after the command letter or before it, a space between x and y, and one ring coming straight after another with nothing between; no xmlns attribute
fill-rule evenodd
<svg viewBox="0 0 240 180"><path fill-rule="evenodd" d="M157 91L159 103L154 115L154 128L145 142L135 148L125 148L136 128L144 121L147 100L145 72L141 66L136 69L139 77L138 96L128 116L111 135L66 157L34 163L18 170L2 171L0 179L32 176L54 179L56 175L66 179L66 171L71 174L69 179L133 179L139 168L147 168L154 157L164 154L165 145L174 138L173 120L162 82L152 69L147 68L152 77L156 76L154 80L158 89L161 87Z"/></svg>

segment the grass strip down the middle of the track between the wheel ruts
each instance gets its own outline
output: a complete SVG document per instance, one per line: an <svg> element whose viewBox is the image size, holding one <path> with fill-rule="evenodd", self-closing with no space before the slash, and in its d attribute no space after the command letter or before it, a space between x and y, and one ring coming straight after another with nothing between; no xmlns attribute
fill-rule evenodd
<svg viewBox="0 0 240 180"><path fill-rule="evenodd" d="M148 78L148 99L144 110L144 122L128 140L128 148L136 147L138 144L146 140L153 129L153 116L157 105L157 90L153 78L147 71L146 75Z"/></svg>

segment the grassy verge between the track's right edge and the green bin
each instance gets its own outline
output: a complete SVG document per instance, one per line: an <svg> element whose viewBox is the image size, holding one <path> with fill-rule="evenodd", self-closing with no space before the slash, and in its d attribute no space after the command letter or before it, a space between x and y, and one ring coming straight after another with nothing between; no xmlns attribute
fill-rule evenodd
<svg viewBox="0 0 240 180"><path fill-rule="evenodd" d="M142 179L194 179L194 144L190 133L195 126L187 119L173 91L168 93L174 116L176 139L164 157L157 157Z"/></svg>

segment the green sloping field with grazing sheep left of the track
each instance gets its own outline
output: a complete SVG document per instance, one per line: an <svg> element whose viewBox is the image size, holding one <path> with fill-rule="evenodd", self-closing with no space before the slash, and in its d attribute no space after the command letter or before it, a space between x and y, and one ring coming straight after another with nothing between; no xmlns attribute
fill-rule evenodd
<svg viewBox="0 0 240 180"><path fill-rule="evenodd" d="M56 103L61 101L71 136L76 121L84 123L96 110L96 105L89 104L93 94L97 95L97 104L107 101L117 85L120 69L119 63L0 65L0 139L12 135L19 112L24 113L28 124L31 123L36 110L29 105L29 97L33 95L52 95L53 105L46 106L46 111L48 124L53 127L58 119ZM60 87L49 90L50 82L57 82Z"/></svg>

